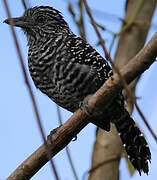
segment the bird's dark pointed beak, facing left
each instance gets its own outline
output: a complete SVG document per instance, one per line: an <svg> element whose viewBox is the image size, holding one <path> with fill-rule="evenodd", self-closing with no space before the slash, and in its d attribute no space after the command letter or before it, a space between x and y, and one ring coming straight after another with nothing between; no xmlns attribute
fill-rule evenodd
<svg viewBox="0 0 157 180"><path fill-rule="evenodd" d="M21 28L26 28L30 25L26 17L8 18L4 20L4 23Z"/></svg>

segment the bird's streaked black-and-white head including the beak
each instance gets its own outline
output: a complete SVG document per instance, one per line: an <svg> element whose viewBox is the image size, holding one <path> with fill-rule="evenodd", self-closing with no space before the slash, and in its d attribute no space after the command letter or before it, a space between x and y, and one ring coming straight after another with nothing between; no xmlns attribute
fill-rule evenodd
<svg viewBox="0 0 157 180"><path fill-rule="evenodd" d="M46 37L47 35L69 32L69 27L61 13L49 6L29 8L24 15L4 21L9 25L22 28L29 37Z"/></svg>

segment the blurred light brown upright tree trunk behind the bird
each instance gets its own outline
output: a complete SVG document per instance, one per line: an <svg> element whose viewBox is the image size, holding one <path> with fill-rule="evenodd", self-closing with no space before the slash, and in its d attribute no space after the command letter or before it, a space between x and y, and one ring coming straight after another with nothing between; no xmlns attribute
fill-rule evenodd
<svg viewBox="0 0 157 180"><path fill-rule="evenodd" d="M127 3L125 23L120 32L115 55L115 64L120 69L143 47L156 7L156 0L128 0ZM135 91L137 80L138 78L130 85L132 92ZM132 112L132 109L133 104L129 104L129 111ZM89 180L119 179L119 157L122 152L122 143L115 127L112 126L109 133L100 129L93 149L91 169L113 157L117 159L91 171Z"/></svg>

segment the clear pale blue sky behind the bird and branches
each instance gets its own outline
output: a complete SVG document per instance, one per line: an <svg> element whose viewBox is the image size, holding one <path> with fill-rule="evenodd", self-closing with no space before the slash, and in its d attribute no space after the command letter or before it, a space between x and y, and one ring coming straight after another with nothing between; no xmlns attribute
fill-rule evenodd
<svg viewBox="0 0 157 180"><path fill-rule="evenodd" d="M32 110L30 97L21 73L13 38L11 36L9 26L3 23L3 20L6 19L7 16L2 2L3 1L0 2L0 180L6 179L7 176L24 159L26 159L42 144L40 132ZM32 6L54 6L63 13L73 32L78 34L77 28L75 27L70 14L67 12L66 0L33 0L29 2ZM72 2L76 1L73 0ZM8 0L8 3L13 16L20 16L23 14L24 10L20 0ZM100 10L107 14L115 14L118 17L123 17L124 15L124 0L99 0L99 3L96 0L88 0L88 3L92 9ZM95 17L100 23L108 27L108 29L118 32L121 23L117 20L117 18L108 15L100 15L96 13L96 11ZM88 41L95 46L97 38L87 17L86 23L88 29ZM154 16L153 24L157 24L156 15ZM151 38L155 30L155 28L151 28L148 39ZM17 33L23 57L25 59L25 64L27 66L28 47L26 38L21 30L17 29ZM107 40L107 45L109 45L108 42L111 41L109 33L104 33L103 37ZM96 47L96 49L103 54L101 48ZM114 50L112 56L114 56ZM137 88L137 96L141 97L138 103L149 120L153 130L157 133L156 69L157 64L154 63L151 68L142 75ZM37 98L45 132L46 134L49 134L53 128L59 125L56 105L35 88L31 78L30 81L34 94ZM63 109L61 111L63 120L66 121L71 114ZM120 165L121 180L155 180L157 178L157 144L136 111L133 116L146 135L152 152L152 163L150 165L149 176L142 175L140 177L139 174L136 173L133 177L130 177L125 161L122 160ZM80 179L82 179L83 174L90 168L91 165L91 155L93 144L95 142L95 130L95 126L89 124L78 135L77 141L71 142L69 145ZM55 156L54 161L61 180L74 179L65 150L58 153ZM52 175L50 165L45 165L32 179L53 180L54 177Z"/></svg>

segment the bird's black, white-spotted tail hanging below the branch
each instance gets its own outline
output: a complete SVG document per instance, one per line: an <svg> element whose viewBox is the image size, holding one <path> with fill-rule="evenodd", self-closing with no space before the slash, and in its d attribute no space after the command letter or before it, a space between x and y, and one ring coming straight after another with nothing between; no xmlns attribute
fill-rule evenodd
<svg viewBox="0 0 157 180"><path fill-rule="evenodd" d="M114 123L128 154L128 158L134 168L139 171L140 175L142 171L148 174L148 161L151 160L148 144L127 110L123 109L121 113L123 115Z"/></svg>

